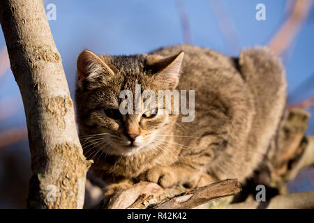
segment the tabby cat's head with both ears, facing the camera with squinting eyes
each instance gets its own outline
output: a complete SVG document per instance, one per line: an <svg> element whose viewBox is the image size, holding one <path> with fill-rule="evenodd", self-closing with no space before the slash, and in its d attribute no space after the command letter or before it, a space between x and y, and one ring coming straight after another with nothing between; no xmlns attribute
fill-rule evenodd
<svg viewBox="0 0 314 223"><path fill-rule="evenodd" d="M170 90L163 91L167 96L177 87L183 58L183 52L163 57L97 56L83 51L77 59L75 101L84 151L133 155L167 140L177 114L169 112L165 98L158 100L158 90ZM148 96L138 97L147 92L154 93L155 106L144 103ZM172 107L174 101L170 103Z"/></svg>

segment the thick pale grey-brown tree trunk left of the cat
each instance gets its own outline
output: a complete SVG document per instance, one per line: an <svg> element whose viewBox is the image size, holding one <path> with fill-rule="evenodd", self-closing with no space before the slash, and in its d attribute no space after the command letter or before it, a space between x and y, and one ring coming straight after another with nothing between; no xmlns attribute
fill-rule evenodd
<svg viewBox="0 0 314 223"><path fill-rule="evenodd" d="M29 208L82 208L88 162L41 0L1 0L0 22L20 88L31 150Z"/></svg>

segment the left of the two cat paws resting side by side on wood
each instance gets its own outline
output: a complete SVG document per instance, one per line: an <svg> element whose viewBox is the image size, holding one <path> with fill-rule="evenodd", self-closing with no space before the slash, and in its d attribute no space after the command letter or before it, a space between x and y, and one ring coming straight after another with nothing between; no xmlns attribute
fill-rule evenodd
<svg viewBox="0 0 314 223"><path fill-rule="evenodd" d="M164 188L173 187L180 183L177 173L172 167L155 167L150 169L146 173L145 180L158 183L158 185Z"/></svg>

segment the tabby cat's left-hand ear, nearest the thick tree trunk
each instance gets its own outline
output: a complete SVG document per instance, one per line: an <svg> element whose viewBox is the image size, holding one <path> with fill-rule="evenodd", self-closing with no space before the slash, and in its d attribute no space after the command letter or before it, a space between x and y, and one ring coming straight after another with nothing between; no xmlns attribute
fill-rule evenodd
<svg viewBox="0 0 314 223"><path fill-rule="evenodd" d="M114 76L112 69L105 61L89 50L84 50L77 59L77 84L80 87L87 85L93 89Z"/></svg>

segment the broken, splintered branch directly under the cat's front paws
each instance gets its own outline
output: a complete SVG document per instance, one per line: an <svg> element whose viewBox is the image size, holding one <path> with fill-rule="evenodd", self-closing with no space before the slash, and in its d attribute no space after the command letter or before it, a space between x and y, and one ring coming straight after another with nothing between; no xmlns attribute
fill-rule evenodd
<svg viewBox="0 0 314 223"><path fill-rule="evenodd" d="M128 189L119 190L107 203L106 209L184 209L229 197L241 191L237 179L221 180L204 187L188 190L184 187L164 189L156 183L140 182Z"/></svg>

